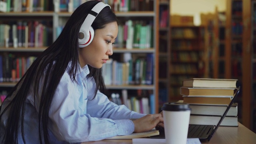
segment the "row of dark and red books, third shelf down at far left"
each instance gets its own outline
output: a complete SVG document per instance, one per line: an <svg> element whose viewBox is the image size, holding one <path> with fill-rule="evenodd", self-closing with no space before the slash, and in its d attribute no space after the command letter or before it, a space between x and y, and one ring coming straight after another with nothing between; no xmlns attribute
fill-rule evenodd
<svg viewBox="0 0 256 144"><path fill-rule="evenodd" d="M34 60L36 60L35 56L0 55L0 82L18 82Z"/></svg>

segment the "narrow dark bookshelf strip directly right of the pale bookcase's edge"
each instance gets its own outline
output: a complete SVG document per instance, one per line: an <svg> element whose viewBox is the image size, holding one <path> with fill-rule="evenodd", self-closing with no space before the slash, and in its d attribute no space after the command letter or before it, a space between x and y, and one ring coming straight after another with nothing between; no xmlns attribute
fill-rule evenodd
<svg viewBox="0 0 256 144"><path fill-rule="evenodd" d="M170 0L159 2L159 109L170 93Z"/></svg>

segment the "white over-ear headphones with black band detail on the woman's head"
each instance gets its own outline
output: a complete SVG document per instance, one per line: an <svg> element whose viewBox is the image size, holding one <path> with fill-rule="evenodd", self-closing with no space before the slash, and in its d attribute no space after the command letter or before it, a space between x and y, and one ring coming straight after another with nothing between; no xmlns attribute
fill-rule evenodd
<svg viewBox="0 0 256 144"><path fill-rule="evenodd" d="M89 12L88 16L86 16L86 18L79 30L79 38L78 38L79 48L84 48L92 42L92 39L94 37L94 30L91 26L92 22L95 20L96 16L98 16L100 11L103 8L105 8L106 6L109 6L109 5L105 4L104 2L99 2L92 8L92 10ZM110 9L111 9L111 7L110 7Z"/></svg>

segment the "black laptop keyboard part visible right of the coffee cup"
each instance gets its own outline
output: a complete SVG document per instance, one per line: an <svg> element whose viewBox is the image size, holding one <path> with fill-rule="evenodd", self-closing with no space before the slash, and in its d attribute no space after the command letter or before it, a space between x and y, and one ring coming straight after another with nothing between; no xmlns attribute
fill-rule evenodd
<svg viewBox="0 0 256 144"><path fill-rule="evenodd" d="M189 125L188 126L188 138L199 138L206 130L207 126Z"/></svg>

